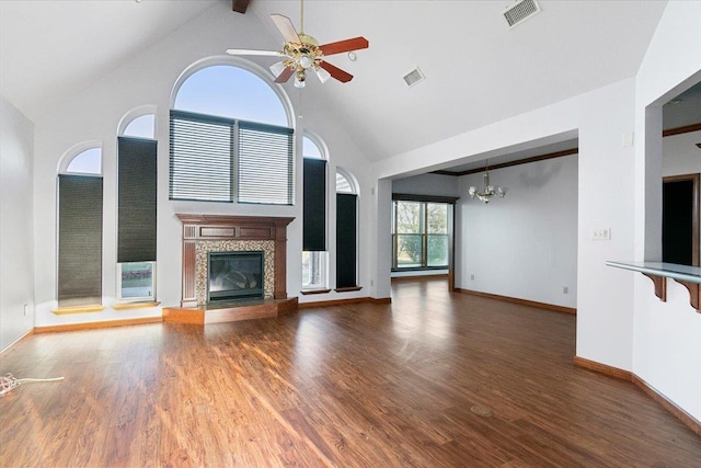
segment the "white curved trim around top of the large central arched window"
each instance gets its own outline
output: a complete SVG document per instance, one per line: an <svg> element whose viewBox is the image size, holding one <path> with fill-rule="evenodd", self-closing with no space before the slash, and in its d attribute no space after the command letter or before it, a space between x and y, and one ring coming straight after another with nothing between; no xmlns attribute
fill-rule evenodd
<svg viewBox="0 0 701 468"><path fill-rule="evenodd" d="M297 128L297 118L295 118L292 102L285 92L283 85L275 83L271 79L271 73L268 70L241 57L215 56L203 58L192 64L180 75L180 77L177 77L175 83L173 84L173 89L171 90L170 109L172 110L175 107L175 99L177 98L177 92L189 77L195 75L197 71L204 70L205 68L220 65L241 68L243 70L250 71L251 73L257 76L261 80L263 80L263 82L271 87L271 90L273 90L273 92L280 100L280 103L283 104L283 109L285 110L285 114L287 116L288 127L292 129Z"/></svg>

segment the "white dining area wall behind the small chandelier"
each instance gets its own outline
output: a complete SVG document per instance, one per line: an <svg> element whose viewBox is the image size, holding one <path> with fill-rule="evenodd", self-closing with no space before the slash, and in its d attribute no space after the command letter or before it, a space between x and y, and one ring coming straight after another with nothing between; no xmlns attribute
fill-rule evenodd
<svg viewBox="0 0 701 468"><path fill-rule="evenodd" d="M577 306L577 156L490 171L508 187L489 204L462 197L457 287L563 307ZM483 173L460 178L460 192ZM567 288L567 294L563 288Z"/></svg>

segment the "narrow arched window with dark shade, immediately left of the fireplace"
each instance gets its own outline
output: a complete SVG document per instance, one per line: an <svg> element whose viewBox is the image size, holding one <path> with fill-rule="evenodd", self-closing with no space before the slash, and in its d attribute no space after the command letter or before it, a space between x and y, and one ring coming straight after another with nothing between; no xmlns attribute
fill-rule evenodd
<svg viewBox="0 0 701 468"><path fill-rule="evenodd" d="M156 300L158 141L153 114L128 117L117 137L117 297L145 303Z"/></svg>

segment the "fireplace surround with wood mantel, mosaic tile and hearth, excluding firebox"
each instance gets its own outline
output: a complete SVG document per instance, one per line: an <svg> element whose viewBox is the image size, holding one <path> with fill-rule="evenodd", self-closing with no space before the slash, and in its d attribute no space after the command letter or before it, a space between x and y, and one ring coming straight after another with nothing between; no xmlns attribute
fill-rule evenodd
<svg viewBox="0 0 701 468"><path fill-rule="evenodd" d="M207 304L208 252L264 252L264 303L262 317L269 317L271 305L275 315L296 309L297 298L287 298L287 225L295 218L265 216L225 216L177 214L183 225L183 283L180 308L170 308L164 319L185 318L193 323L210 323L204 315L216 309L216 321L255 318L256 306L210 307ZM242 310L245 309L245 310ZM202 321L191 320L188 311L203 313ZM235 318L235 315L245 317Z"/></svg>

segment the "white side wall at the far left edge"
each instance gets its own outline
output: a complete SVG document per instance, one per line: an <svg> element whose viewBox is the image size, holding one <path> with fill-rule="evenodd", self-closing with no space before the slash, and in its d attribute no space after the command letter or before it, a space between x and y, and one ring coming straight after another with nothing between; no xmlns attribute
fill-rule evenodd
<svg viewBox="0 0 701 468"><path fill-rule="evenodd" d="M0 351L34 326L34 125L0 96ZM25 315L26 305L26 315Z"/></svg>

